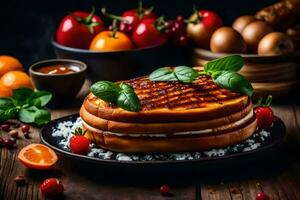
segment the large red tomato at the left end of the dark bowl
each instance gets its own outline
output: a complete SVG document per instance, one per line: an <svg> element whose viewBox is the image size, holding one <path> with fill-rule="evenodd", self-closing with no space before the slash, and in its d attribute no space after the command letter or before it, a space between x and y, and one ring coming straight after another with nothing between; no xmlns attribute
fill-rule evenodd
<svg viewBox="0 0 300 200"><path fill-rule="evenodd" d="M105 29L101 18L91 13L76 11L61 21L56 41L64 46L88 49L93 38Z"/></svg>

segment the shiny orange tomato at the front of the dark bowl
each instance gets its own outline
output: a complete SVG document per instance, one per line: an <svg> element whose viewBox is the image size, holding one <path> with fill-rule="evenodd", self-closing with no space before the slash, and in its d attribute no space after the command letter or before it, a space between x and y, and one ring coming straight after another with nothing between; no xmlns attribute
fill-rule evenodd
<svg viewBox="0 0 300 200"><path fill-rule="evenodd" d="M94 51L120 51L132 49L130 38L122 33L114 31L103 31L99 33L92 41L90 50Z"/></svg>

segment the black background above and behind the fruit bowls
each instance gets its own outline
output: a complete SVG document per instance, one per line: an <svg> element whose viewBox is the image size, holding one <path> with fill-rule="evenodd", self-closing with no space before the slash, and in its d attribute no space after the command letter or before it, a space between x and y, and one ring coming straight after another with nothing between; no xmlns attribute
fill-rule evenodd
<svg viewBox="0 0 300 200"><path fill-rule="evenodd" d="M225 25L242 14L253 14L276 0L144 0L158 15L189 17L193 5L217 12ZM137 6L138 0L1 0L0 54L16 56L27 68L30 64L54 58L51 37L62 17L74 10L97 12L107 7L116 14Z"/></svg>

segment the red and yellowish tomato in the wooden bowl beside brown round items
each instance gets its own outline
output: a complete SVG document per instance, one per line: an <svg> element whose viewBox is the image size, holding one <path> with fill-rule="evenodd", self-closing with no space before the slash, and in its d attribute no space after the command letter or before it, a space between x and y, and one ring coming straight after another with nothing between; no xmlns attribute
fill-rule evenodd
<svg viewBox="0 0 300 200"><path fill-rule="evenodd" d="M187 35L199 47L209 49L210 38L215 30L223 26L222 19L214 12L200 10L188 20Z"/></svg>

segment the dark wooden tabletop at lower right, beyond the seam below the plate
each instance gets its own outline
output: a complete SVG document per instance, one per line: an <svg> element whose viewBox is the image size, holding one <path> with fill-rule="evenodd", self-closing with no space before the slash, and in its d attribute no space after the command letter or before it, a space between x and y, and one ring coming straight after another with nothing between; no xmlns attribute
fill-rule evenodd
<svg viewBox="0 0 300 200"><path fill-rule="evenodd" d="M292 145L289 150L292 151L297 147L299 148L299 146L295 144L295 138L299 137L300 134L300 117L296 117L295 108L291 105L275 105L272 108L275 115L280 117L287 127L286 142L289 146ZM300 116L300 109L297 108L296 111L298 116ZM289 154L290 152L288 151L287 153ZM293 156L291 157L293 158ZM276 162L285 162L285 159L278 159ZM255 199L256 194L260 191L257 187L257 183L260 183L262 189L271 197L271 199L297 199L300 197L299 159L296 163L293 163L294 161L291 162L292 166L287 168L283 173L279 173L277 176L271 178L261 178L261 175L259 175L257 176L257 179L253 179L255 178L254 174L252 178L249 177L245 180L239 180L240 177L236 177L239 184L234 181L224 185L203 184L201 187L202 199ZM274 167L276 168L276 163L274 163ZM267 173L268 171L266 171L266 174ZM227 188L229 188L229 190L227 190ZM234 192L236 194L232 194L232 188L237 189L237 191Z"/></svg>

